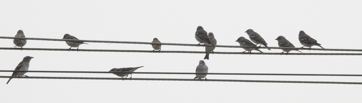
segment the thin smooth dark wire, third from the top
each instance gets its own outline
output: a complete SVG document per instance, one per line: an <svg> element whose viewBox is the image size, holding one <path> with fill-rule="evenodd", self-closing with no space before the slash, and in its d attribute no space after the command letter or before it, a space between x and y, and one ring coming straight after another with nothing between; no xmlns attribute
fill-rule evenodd
<svg viewBox="0 0 362 103"><path fill-rule="evenodd" d="M0 70L0 72L34 73L132 73L132 74L209 74L209 75L294 75L294 76L362 76L361 74L269 74L269 73L169 73L169 72L115 72L115 71L20 71Z"/></svg>

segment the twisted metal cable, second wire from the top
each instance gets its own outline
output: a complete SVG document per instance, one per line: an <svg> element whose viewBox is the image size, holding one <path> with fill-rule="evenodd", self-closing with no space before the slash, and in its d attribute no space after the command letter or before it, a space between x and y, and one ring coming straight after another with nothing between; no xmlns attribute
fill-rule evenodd
<svg viewBox="0 0 362 103"><path fill-rule="evenodd" d="M139 53L198 53L205 51L151 51L151 50L100 50L100 49L49 49L49 48L0 48L0 50L48 50L48 51L100 51L100 52L139 52ZM362 55L362 53L244 53L214 52L213 54L255 54L255 55Z"/></svg>

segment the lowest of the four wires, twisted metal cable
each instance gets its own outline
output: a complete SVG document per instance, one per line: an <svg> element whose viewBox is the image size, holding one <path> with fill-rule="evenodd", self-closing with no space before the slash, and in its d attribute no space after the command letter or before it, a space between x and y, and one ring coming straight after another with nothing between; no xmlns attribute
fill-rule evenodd
<svg viewBox="0 0 362 103"><path fill-rule="evenodd" d="M15 77L0 76L0 78L30 78L30 79L92 79L92 80L144 80L144 81L213 81L213 82L263 82L263 83L319 83L319 84L354 84L362 82L320 82L320 81L261 81L261 80L231 80L231 79L171 79L171 78L93 78L93 77Z"/></svg>

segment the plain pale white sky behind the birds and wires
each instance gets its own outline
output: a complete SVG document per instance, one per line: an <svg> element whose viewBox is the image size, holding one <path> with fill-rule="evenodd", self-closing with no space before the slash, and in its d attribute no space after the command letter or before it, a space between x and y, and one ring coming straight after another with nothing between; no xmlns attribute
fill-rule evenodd
<svg viewBox="0 0 362 103"><path fill-rule="evenodd" d="M362 49L360 0L1 0L0 34L13 37L23 30L26 37L63 38L68 33L80 40L198 44L197 26L215 35L218 45L236 45L247 29L259 33L276 47L285 36L302 47L298 33L304 30L324 48ZM248 38L249 39L249 38ZM12 48L13 40L1 39ZM79 49L153 50L151 45L88 43ZM28 40L24 48L70 48L61 41ZM312 47L319 48L319 47ZM194 46L167 46L167 50L204 51ZM109 71L144 66L136 72L194 73L205 54L120 53L0 50L0 70L14 70L25 56L34 57L29 70ZM241 48L214 51L241 52ZM280 53L280 49L264 52ZM255 51L253 51L255 52ZM256 51L257 52L257 51ZM303 53L357 53L308 51ZM291 51L298 53L298 51ZM358 52L359 53L359 52ZM362 74L361 56L331 55L210 55L209 73ZM0 73L10 76L12 73ZM28 76L111 77L113 74L27 73ZM133 78L185 78L195 75L133 74ZM361 77L207 75L208 79L275 81L362 82ZM1 102L361 102L361 85L246 83L195 81L117 81L0 78Z"/></svg>

